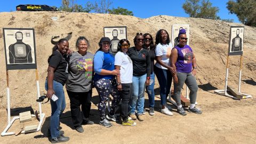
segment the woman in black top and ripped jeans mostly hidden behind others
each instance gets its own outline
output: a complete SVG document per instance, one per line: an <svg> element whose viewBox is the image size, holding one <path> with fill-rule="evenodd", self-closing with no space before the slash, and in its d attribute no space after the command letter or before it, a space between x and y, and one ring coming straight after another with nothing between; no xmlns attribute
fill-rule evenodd
<svg viewBox="0 0 256 144"><path fill-rule="evenodd" d="M143 35L144 37L144 44L143 48L149 52L150 55L150 82L149 85L146 86L146 91L148 93L148 100L149 100L149 115L154 115L154 106L155 106L155 93L154 93L154 85L155 85L155 74L154 74L154 60L156 57L155 54L155 45L153 42L153 37L146 33ZM145 110L146 113L146 110ZM143 113L144 114L144 113Z"/></svg>

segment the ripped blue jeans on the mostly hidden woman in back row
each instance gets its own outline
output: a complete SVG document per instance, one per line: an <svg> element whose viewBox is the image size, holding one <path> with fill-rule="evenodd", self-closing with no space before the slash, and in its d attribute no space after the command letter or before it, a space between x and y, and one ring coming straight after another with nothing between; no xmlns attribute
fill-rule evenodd
<svg viewBox="0 0 256 144"><path fill-rule="evenodd" d="M148 101L149 101L150 108L154 108L154 106L155 106L154 86L155 86L155 73L153 72L152 74L150 74L150 83L148 86L146 86L146 91L148 93Z"/></svg>

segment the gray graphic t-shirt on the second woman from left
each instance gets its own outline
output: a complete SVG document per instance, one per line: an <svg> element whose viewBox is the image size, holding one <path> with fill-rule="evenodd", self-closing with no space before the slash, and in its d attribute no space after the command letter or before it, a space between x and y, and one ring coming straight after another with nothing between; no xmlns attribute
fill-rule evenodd
<svg viewBox="0 0 256 144"><path fill-rule="evenodd" d="M92 89L93 54L72 53L69 60L66 89L71 92L87 92Z"/></svg>

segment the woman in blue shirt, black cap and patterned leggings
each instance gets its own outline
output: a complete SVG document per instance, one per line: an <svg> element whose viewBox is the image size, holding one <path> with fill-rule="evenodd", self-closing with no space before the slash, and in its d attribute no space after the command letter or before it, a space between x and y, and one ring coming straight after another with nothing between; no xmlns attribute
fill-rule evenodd
<svg viewBox="0 0 256 144"><path fill-rule="evenodd" d="M115 76L120 74L120 71L115 69L115 57L109 52L110 39L102 37L99 42L99 50L95 53L93 59L94 66L94 86L99 93L100 102L98 104L100 114L100 125L110 127L112 124L106 119L105 110L109 99L109 94L113 96L111 110L107 118L112 121L117 121L114 116L115 108L120 101L120 95L117 90Z"/></svg>

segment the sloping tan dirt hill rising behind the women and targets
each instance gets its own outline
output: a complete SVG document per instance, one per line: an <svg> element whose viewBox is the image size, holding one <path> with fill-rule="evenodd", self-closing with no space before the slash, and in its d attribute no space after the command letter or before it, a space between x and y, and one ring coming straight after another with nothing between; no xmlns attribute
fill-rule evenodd
<svg viewBox="0 0 256 144"><path fill-rule="evenodd" d="M128 39L132 42L136 33L150 33L154 37L159 29L166 29L171 35L172 25L190 25L190 46L195 51L197 59L198 84L210 84L223 89L226 74L227 51L229 41L229 27L243 26L239 23L227 23L219 20L179 18L159 15L147 19L132 16L95 14L95 13L68 13L68 12L2 12L0 13L1 28L35 28L36 57L39 71L40 90L44 91L47 58L51 54L53 45L52 36L73 32L70 39L70 48L75 50L75 41L78 36L89 39L89 51L98 49L99 39L103 36L103 27L127 26ZM57 20L52 20L57 17ZM256 79L256 28L245 26L243 80ZM3 30L0 29L0 108L6 106L6 68L3 44ZM238 83L239 56L230 58L229 83ZM9 70L12 107L33 105L36 95L35 70ZM29 97L24 100L23 98ZM31 99L30 99L31 98Z"/></svg>

